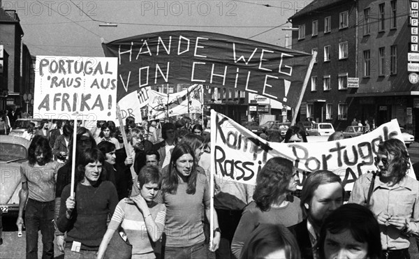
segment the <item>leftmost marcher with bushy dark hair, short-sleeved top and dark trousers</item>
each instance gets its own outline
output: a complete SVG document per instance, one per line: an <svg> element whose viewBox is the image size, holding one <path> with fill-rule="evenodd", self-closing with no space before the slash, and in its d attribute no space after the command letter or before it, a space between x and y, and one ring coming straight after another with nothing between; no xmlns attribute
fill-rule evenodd
<svg viewBox="0 0 419 259"><path fill-rule="evenodd" d="M28 161L20 165L17 228L26 223L26 257L38 258L38 231L41 230L42 258L54 258L54 191L61 164L52 159L47 138L36 135L28 149ZM23 221L23 211L25 216Z"/></svg>

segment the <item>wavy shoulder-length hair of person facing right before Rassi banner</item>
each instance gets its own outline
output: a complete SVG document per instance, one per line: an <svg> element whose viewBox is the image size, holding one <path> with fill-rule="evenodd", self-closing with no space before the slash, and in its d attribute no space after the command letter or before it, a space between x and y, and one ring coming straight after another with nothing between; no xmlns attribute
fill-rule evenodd
<svg viewBox="0 0 419 259"><path fill-rule="evenodd" d="M286 158L270 158L258 172L253 200L262 211L270 210L272 202L286 193L286 188L293 177L293 162Z"/></svg>

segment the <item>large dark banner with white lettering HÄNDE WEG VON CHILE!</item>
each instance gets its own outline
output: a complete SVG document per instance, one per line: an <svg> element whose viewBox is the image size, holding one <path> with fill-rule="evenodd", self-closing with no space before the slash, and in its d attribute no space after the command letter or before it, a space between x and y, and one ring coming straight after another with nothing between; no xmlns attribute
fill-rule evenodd
<svg viewBox="0 0 419 259"><path fill-rule="evenodd" d="M119 101L154 84L190 83L249 91L296 108L311 54L203 31L162 31L103 43L117 57Z"/></svg>

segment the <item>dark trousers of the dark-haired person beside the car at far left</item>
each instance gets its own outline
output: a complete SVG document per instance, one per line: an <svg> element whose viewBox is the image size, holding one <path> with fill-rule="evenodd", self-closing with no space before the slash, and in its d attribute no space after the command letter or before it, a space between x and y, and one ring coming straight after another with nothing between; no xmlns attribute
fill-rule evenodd
<svg viewBox="0 0 419 259"><path fill-rule="evenodd" d="M54 258L54 200L38 202L29 199L25 209L27 258L38 258L38 231L41 230L42 258Z"/></svg>

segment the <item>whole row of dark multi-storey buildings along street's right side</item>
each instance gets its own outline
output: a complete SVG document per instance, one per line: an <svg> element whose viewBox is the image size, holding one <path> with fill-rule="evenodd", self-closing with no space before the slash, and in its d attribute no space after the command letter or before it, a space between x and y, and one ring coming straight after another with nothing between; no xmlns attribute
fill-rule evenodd
<svg viewBox="0 0 419 259"><path fill-rule="evenodd" d="M300 120L344 129L355 118L397 119L418 139L417 10L415 0L315 0L293 15L293 48L318 50Z"/></svg>

